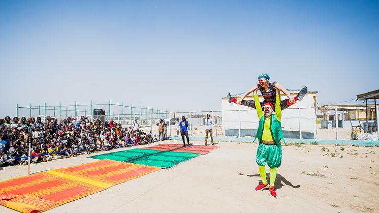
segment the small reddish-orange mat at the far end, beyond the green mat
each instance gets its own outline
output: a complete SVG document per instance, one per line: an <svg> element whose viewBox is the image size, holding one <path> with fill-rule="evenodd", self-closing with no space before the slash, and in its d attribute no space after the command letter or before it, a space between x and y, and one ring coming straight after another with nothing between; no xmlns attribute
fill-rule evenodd
<svg viewBox="0 0 379 213"><path fill-rule="evenodd" d="M202 146L202 145L192 145L183 146L174 143L164 143L155 146L145 147L144 149L154 149L159 151L174 151L180 153L197 153L201 155L206 155L210 153L213 149L218 148L218 146Z"/></svg>

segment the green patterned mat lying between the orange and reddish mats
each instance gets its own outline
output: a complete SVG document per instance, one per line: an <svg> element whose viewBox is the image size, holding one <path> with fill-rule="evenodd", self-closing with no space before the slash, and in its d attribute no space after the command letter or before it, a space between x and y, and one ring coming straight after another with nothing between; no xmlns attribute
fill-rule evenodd
<svg viewBox="0 0 379 213"><path fill-rule="evenodd" d="M153 149L129 149L103 155L91 156L93 159L109 159L128 163L170 168L176 164L199 156L196 153L174 153Z"/></svg>

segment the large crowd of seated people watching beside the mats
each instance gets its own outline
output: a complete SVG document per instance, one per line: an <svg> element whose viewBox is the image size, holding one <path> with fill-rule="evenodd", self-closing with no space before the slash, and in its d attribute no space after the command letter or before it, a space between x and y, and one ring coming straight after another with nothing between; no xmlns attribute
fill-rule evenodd
<svg viewBox="0 0 379 213"><path fill-rule="evenodd" d="M157 141L156 135L135 129L122 128L113 120L90 121L81 116L80 120L68 117L57 120L46 117L14 117L0 119L0 167L27 165L29 144L30 163L76 157L114 148L149 144Z"/></svg>

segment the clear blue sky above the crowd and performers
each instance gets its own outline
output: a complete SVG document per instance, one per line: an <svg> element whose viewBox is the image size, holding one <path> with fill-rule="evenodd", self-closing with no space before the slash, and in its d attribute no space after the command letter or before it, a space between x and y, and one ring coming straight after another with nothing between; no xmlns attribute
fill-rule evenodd
<svg viewBox="0 0 379 213"><path fill-rule="evenodd" d="M379 1L0 1L0 117L59 101L217 110L263 72L319 106L378 89Z"/></svg>

